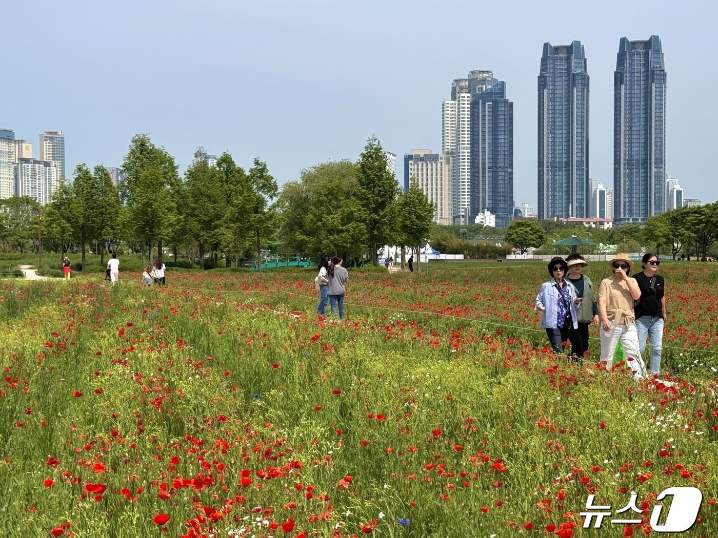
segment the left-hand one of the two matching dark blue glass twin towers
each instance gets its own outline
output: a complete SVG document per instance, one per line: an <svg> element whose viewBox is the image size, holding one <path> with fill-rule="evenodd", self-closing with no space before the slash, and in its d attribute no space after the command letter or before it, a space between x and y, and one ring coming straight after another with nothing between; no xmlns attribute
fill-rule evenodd
<svg viewBox="0 0 718 538"><path fill-rule="evenodd" d="M544 43L538 75L538 218L589 216L589 76L580 41Z"/></svg>

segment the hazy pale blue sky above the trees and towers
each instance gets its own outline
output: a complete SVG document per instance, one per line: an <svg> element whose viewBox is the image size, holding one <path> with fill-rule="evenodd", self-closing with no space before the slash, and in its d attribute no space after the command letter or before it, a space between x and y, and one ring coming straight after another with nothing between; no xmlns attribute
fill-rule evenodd
<svg viewBox="0 0 718 538"><path fill-rule="evenodd" d="M590 6L587 6L590 5ZM279 183L358 158L441 149L451 81L493 70L514 103L516 204L536 203L536 77L544 42L584 44L590 172L612 184L621 37L658 34L668 77L667 171L718 198L715 1L11 1L3 6L0 126L33 143L65 133L68 174L119 166L135 133L174 155L254 156Z"/></svg>

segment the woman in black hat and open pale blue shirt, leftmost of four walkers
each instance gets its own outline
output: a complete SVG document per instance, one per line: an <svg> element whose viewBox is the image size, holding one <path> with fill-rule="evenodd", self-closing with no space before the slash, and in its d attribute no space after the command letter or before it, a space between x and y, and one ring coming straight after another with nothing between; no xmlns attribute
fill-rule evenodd
<svg viewBox="0 0 718 538"><path fill-rule="evenodd" d="M554 353L563 353L564 347L561 344L570 341L572 354L576 356L581 348L577 331L577 293L576 288L566 280L568 268L564 258L558 256L549 262L551 280L541 284L534 309L541 312L540 326L541 329L546 329Z"/></svg>

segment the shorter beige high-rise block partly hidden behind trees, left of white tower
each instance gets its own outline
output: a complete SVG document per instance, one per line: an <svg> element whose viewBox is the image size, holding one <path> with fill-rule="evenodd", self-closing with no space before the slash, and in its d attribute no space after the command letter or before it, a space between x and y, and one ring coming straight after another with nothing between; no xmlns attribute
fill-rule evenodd
<svg viewBox="0 0 718 538"><path fill-rule="evenodd" d="M453 222L449 184L451 161L451 156L432 154L430 149L412 149L404 154L404 190L409 189L412 180L416 181L429 202L434 204L434 222L440 225Z"/></svg>

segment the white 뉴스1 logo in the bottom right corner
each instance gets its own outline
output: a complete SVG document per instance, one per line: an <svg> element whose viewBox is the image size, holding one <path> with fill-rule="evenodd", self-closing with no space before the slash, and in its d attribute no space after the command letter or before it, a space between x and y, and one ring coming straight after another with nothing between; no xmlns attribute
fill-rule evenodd
<svg viewBox="0 0 718 538"><path fill-rule="evenodd" d="M656 501L661 501L666 496L672 495L673 502L671 503L671 509L666 515L666 522L663 524L658 523L658 519L661 518L661 512L663 511L663 504L656 504L653 506L651 511L651 529L656 532L684 532L693 527L696 519L698 518L698 511L701 508L701 501L703 501L703 494L697 488L668 488L661 491L656 497ZM588 496L586 501L587 510L610 510L610 504L605 506L595 506L593 504L595 495L591 494ZM632 492L630 494L630 501L622 509L617 510L616 514L623 514L627 511L635 512L640 515L635 519L611 519L611 524L639 524L643 522L643 510L638 509L635 505L637 494ZM591 528L593 523L594 529L600 529L603 524L605 517L611 516L610 511L595 511L595 512L581 512L580 514L584 518L584 529ZM633 514L625 514L630 516Z"/></svg>

